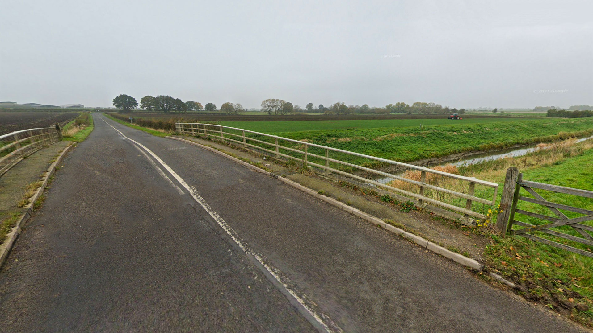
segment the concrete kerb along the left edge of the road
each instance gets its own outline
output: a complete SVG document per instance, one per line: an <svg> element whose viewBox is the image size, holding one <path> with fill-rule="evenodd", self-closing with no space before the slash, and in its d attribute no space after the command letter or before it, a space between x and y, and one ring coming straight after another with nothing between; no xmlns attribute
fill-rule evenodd
<svg viewBox="0 0 593 333"><path fill-rule="evenodd" d="M49 168L47 168L47 171L43 175L41 186L37 188L35 194L33 194L33 196L29 199L29 203L27 204L27 206L24 207L26 211L23 214L21 214L21 216L17 220L17 223L15 223L15 226L12 227L12 230L6 235L4 243L0 244L0 267L2 267L2 265L4 265L4 262L7 260L8 254L12 249L12 245L14 245L15 241L18 238L18 235L20 235L21 231L23 230L23 226L31 218L31 214L33 213L33 204L43 194L43 191L47 187L47 182L49 181L49 178L53 175L53 172L55 172L58 164L62 162L64 155L66 155L66 152L68 152L68 149L70 147L72 147L72 145L66 146L66 148L64 148L64 150L60 153L56 161L54 161L52 165L50 165Z"/></svg>

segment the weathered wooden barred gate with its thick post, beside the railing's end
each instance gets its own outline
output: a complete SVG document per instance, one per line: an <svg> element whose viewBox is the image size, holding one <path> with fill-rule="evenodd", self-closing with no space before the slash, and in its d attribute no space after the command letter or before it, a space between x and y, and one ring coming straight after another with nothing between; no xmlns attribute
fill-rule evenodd
<svg viewBox="0 0 593 333"><path fill-rule="evenodd" d="M512 235L520 235L533 241L542 242L547 245L556 246L571 252L586 255L587 257L593 258L593 235L589 232L593 232L593 226L584 224L593 220L593 210L582 209L579 207L572 207L566 204L553 203L547 201L540 193L535 190L546 190L556 193L568 194L569 196L579 196L585 198L593 198L593 191L579 190L578 188L563 187L558 185L544 184L542 182L534 182L523 180L523 175L518 172L517 168L509 168L506 173L507 177L505 180L505 188L503 190L503 198L501 199L501 207L503 207L502 213L499 215L498 227L499 230L504 232L508 230ZM525 197L521 195L521 189L527 191L532 197ZM508 195L513 191L512 195ZM506 195L505 195L506 194ZM544 207L547 207L554 214L549 216L545 214L530 212L519 208L520 201L535 203ZM573 212L581 214L569 218L565 213ZM524 216L531 217L531 221L535 223L543 222L541 224L531 224L517 220L516 214L522 214ZM507 226L508 225L508 226ZM514 226L524 228L513 228ZM543 233L552 236L551 239L544 238L544 235L536 236L533 233ZM555 238L555 239L554 239ZM568 244L563 244L561 240L567 240L570 242L576 242L576 244L582 244L582 248L576 248Z"/></svg>

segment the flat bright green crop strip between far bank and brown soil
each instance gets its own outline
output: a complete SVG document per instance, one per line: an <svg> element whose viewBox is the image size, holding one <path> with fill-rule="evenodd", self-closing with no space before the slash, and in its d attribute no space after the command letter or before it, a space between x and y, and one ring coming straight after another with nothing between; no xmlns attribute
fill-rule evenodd
<svg viewBox="0 0 593 333"><path fill-rule="evenodd" d="M422 126L466 126L469 124L508 123L521 118L501 119L385 119L385 120L297 120L297 121L222 121L224 126L238 127L262 133L302 132L312 130L378 129Z"/></svg>

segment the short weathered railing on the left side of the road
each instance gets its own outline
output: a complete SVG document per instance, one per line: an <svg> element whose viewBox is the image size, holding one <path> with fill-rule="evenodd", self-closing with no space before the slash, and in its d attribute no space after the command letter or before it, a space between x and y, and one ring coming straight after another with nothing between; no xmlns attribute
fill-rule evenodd
<svg viewBox="0 0 593 333"><path fill-rule="evenodd" d="M21 159L43 148L44 145L58 142L61 133L55 127L18 130L0 136L0 175L14 167Z"/></svg>

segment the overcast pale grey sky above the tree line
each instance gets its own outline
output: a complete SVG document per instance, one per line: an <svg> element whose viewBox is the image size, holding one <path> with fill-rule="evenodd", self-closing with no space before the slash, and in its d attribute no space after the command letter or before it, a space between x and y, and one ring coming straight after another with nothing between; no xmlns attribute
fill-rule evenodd
<svg viewBox="0 0 593 333"><path fill-rule="evenodd" d="M0 100L593 104L593 1L0 1Z"/></svg>

